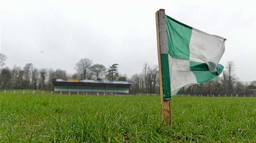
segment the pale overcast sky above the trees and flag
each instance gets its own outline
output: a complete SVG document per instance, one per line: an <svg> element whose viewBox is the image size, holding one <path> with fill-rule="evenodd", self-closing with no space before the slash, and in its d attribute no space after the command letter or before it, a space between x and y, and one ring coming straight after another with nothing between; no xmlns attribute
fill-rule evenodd
<svg viewBox="0 0 256 143"><path fill-rule="evenodd" d="M157 65L155 12L227 38L220 61L234 61L236 76L256 80L256 2L0 0L1 53L6 66L63 69L89 58L106 67L118 63L122 74Z"/></svg>

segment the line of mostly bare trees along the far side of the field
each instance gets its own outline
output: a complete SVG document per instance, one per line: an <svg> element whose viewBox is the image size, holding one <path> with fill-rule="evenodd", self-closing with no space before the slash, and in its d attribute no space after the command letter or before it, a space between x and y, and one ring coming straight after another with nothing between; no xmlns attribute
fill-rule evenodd
<svg viewBox="0 0 256 143"><path fill-rule="evenodd" d="M0 54L0 88L2 89L43 89L53 90L52 79L88 79L88 80L119 80L132 82L131 93L159 93L158 66L145 63L142 72L127 77L118 72L119 64L115 63L106 68L102 64L93 64L92 60L79 60L74 68L75 74L65 70L52 68L38 69L32 63L23 68L14 65L13 68L4 67L7 57ZM229 61L222 75L214 80L200 85L185 86L180 90L184 94L250 94L256 89L256 81L249 85L243 84L235 76L235 65Z"/></svg>

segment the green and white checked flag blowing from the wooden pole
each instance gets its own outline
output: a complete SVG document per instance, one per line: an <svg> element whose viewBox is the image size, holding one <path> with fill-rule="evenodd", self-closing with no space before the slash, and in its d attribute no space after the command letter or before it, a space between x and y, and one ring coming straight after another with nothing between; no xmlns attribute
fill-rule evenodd
<svg viewBox="0 0 256 143"><path fill-rule="evenodd" d="M224 67L219 61L225 51L225 38L167 15L166 33L168 54L161 54L164 90L169 87L171 95L175 95L185 85L204 83L221 74Z"/></svg>

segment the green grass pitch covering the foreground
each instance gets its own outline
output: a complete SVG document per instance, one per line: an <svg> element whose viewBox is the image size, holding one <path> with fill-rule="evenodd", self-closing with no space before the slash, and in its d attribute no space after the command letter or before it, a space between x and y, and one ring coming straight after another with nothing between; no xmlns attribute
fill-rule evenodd
<svg viewBox="0 0 256 143"><path fill-rule="evenodd" d="M0 93L0 142L256 142L256 98Z"/></svg>

